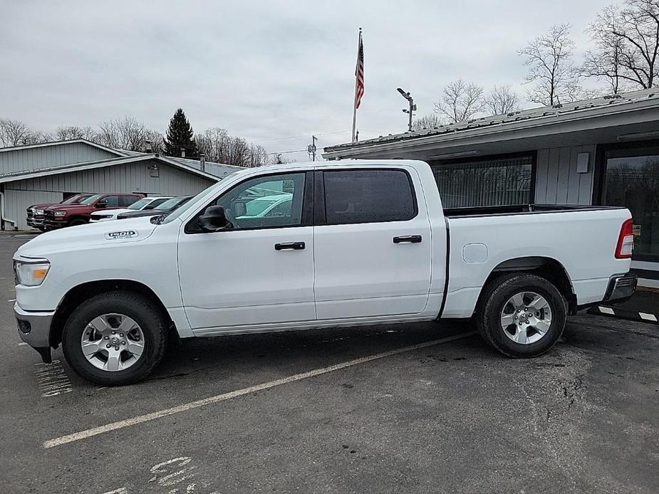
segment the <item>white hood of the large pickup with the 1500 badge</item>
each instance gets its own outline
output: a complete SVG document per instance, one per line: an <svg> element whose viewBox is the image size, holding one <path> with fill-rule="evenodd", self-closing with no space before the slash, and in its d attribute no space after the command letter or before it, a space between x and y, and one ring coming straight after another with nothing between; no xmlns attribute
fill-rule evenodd
<svg viewBox="0 0 659 494"><path fill-rule="evenodd" d="M149 218L101 221L80 226L69 226L61 230L41 233L16 251L14 257L45 257L60 252L75 252L94 246L123 245L149 238L157 228Z"/></svg>

